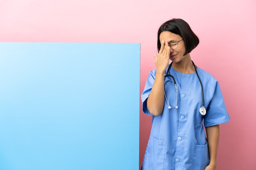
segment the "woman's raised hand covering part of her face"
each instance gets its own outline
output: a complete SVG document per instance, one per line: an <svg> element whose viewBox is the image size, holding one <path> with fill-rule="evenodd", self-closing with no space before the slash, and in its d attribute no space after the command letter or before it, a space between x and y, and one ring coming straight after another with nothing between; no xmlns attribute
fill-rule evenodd
<svg viewBox="0 0 256 170"><path fill-rule="evenodd" d="M165 72L170 60L170 47L167 41L161 42L161 48L159 50L159 53L158 55L154 54L154 56L155 56L155 65L157 67L157 70L161 72Z"/></svg>

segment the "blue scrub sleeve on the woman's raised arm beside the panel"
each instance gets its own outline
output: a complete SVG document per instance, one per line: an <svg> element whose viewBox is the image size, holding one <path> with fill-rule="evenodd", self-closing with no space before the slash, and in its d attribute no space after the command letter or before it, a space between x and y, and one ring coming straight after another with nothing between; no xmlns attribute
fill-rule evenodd
<svg viewBox="0 0 256 170"><path fill-rule="evenodd" d="M147 99L153 87L154 81L155 81L155 76L153 76L153 72L150 72L144 87L144 91L141 94L142 110L147 115L150 115L150 112L148 111L148 108L147 108Z"/></svg>

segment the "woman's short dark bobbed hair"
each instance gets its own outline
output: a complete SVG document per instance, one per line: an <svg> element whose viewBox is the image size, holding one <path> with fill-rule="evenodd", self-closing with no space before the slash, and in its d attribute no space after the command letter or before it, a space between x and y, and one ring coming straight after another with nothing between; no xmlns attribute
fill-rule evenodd
<svg viewBox="0 0 256 170"><path fill-rule="evenodd" d="M184 55L191 52L199 44L198 37L195 35L195 33L193 33L188 23L186 23L182 19L172 19L164 22L164 24L162 24L158 30L158 35L157 35L158 52L161 48L161 42L160 42L159 36L164 31L170 31L171 33L180 35L184 39L185 47L186 47L186 51Z"/></svg>

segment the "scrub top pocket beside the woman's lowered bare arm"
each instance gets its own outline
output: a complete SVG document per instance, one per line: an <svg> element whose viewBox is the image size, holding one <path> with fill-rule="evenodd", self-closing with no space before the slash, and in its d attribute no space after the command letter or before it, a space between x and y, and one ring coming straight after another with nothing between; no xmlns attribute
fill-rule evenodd
<svg viewBox="0 0 256 170"><path fill-rule="evenodd" d="M209 165L208 143L205 145L195 145L192 170L204 170Z"/></svg>

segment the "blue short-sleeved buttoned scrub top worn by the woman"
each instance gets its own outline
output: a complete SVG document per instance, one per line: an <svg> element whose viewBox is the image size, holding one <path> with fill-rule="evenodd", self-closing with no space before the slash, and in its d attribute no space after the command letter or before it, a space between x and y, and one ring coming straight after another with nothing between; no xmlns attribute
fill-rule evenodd
<svg viewBox="0 0 256 170"><path fill-rule="evenodd" d="M167 72L167 69L166 69ZM183 74L171 67L176 81L177 109L168 109L164 100L161 115L153 116L152 128L142 170L204 170L209 165L209 153L205 127L229 122L219 83L208 72L197 68L204 89L205 116L199 113L202 107L202 90L196 73ZM155 80L156 70L149 73L144 92L141 94L144 113L147 98ZM165 78L165 94L171 107L176 103L176 90L171 77ZM203 122L204 121L204 122Z"/></svg>

